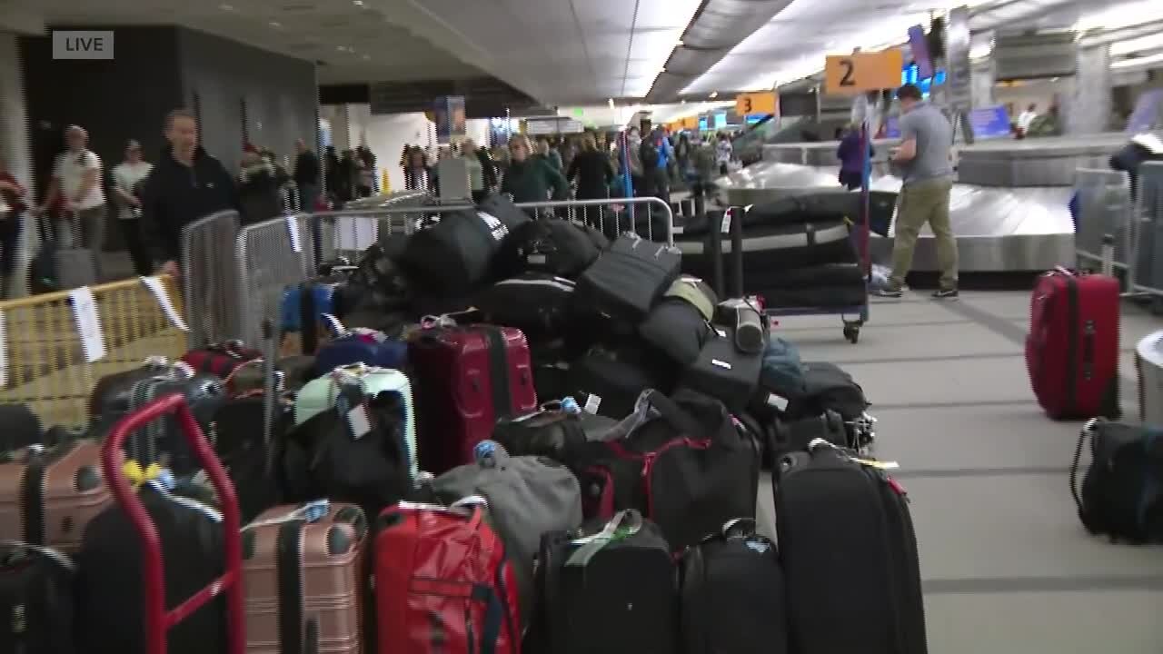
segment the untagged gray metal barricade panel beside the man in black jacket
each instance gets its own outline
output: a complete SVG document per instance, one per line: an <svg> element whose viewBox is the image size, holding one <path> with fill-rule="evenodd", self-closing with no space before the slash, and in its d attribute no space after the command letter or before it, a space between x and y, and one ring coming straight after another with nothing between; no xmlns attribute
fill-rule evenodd
<svg viewBox="0 0 1163 654"><path fill-rule="evenodd" d="M238 283L234 242L238 212L224 211L181 229L181 287L190 325L190 347L237 337Z"/></svg>

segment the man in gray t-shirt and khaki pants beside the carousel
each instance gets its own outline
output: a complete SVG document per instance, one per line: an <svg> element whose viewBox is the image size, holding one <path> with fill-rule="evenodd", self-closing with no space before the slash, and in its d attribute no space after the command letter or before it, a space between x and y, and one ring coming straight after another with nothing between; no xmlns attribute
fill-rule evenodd
<svg viewBox="0 0 1163 654"><path fill-rule="evenodd" d="M882 297L899 298L905 276L913 265L916 237L927 222L933 230L941 266L941 287L934 298L957 297L957 240L949 223L949 192L952 189L952 126L940 109L922 101L921 90L906 84L897 91L900 108L901 143L892 154L900 169L904 187L897 207L896 240L892 248L892 276L878 289Z"/></svg>

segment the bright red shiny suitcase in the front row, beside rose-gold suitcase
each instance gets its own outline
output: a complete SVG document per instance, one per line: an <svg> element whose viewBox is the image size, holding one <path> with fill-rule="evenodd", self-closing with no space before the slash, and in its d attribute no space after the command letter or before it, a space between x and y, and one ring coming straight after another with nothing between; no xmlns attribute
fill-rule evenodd
<svg viewBox="0 0 1163 654"><path fill-rule="evenodd" d="M485 507L401 503L374 552L379 652L520 654L516 580Z"/></svg>

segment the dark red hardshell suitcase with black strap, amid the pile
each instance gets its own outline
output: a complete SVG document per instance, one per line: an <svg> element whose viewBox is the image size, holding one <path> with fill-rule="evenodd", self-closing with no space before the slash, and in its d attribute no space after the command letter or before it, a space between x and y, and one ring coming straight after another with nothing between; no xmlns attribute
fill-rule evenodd
<svg viewBox="0 0 1163 654"><path fill-rule="evenodd" d="M473 461L501 418L537 408L529 344L520 329L492 325L436 327L414 336L420 467L438 475Z"/></svg>

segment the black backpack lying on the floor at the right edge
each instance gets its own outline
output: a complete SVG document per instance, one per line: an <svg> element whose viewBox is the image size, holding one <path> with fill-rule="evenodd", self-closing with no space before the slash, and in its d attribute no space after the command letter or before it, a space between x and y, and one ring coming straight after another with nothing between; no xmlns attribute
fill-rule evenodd
<svg viewBox="0 0 1163 654"><path fill-rule="evenodd" d="M1083 447L1091 467L1078 489ZM1083 427L1070 467L1078 519L1092 534L1128 542L1163 542L1163 436L1158 429L1094 419Z"/></svg>

